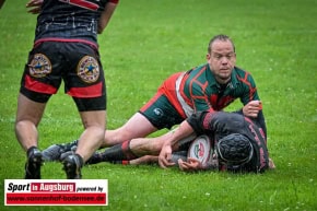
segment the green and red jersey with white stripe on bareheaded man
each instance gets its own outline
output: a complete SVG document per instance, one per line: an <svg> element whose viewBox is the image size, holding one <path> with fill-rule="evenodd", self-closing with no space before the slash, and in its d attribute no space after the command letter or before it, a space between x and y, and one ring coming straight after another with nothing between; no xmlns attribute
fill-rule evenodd
<svg viewBox="0 0 317 211"><path fill-rule="evenodd" d="M256 83L247 71L235 67L231 82L222 87L208 63L173 74L164 81L158 92L166 95L183 118L196 112L222 110L236 98L244 105L259 99Z"/></svg>

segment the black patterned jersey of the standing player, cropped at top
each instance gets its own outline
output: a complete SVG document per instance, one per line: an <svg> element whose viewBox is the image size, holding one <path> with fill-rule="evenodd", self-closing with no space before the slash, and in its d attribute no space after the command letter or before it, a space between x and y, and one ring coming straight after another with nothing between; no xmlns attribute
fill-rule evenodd
<svg viewBox="0 0 317 211"><path fill-rule="evenodd" d="M37 17L35 43L78 40L97 45L101 12L108 0L45 0Z"/></svg>

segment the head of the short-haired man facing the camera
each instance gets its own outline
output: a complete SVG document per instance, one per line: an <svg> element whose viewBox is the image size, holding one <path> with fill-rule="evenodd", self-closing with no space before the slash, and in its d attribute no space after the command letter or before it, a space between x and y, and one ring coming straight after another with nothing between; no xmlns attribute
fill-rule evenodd
<svg viewBox="0 0 317 211"><path fill-rule="evenodd" d="M215 80L219 83L226 83L236 62L234 47L230 40L215 40L211 45L211 52L207 60Z"/></svg>

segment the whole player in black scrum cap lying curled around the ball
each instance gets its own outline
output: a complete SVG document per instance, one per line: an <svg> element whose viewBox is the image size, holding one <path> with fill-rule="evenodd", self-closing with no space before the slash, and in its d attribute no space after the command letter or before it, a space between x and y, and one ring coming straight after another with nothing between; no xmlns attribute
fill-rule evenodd
<svg viewBox="0 0 317 211"><path fill-rule="evenodd" d="M181 136L180 136L180 134ZM192 152L188 149L193 148L192 141L197 141L196 136L206 134L204 139L210 141L210 146L204 148L204 153L209 154L208 160L204 157L199 162L200 156L192 157ZM144 142L152 142L155 138L144 138ZM131 140L133 143L134 139ZM178 129L174 131L164 144L161 154L166 151L166 145L171 142L173 146L173 154L165 152L166 160L164 160L162 167L178 164L183 171L197 169L228 169L228 171L246 171L246 172L263 172L265 169L274 168L274 164L269 161L269 153L267 149L266 136L258 122L235 113L200 113L192 115L184 121ZM137 142L140 143L140 142ZM200 143L201 144L201 143ZM133 144L131 148L125 149L121 144L106 149L104 152L96 152L87 164L96 164L99 162L110 162L120 164L146 164L156 163L160 149L153 148L150 153L146 151L138 151L140 149ZM198 145L199 148L199 145ZM198 151L197 151L198 152ZM203 156L203 152L200 151ZM64 156L68 153L62 154ZM190 157L187 160L187 154ZM178 160L177 157L180 157ZM209 157L209 155L208 155ZM173 162L168 162L173 161ZM176 163L177 162L177 163Z"/></svg>

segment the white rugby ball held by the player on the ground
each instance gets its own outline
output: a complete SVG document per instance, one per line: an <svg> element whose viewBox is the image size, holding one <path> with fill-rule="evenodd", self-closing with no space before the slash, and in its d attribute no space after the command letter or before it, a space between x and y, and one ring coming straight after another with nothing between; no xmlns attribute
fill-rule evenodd
<svg viewBox="0 0 317 211"><path fill-rule="evenodd" d="M190 144L187 157L192 157L206 166L211 160L211 141L208 136L202 134L197 137Z"/></svg>

